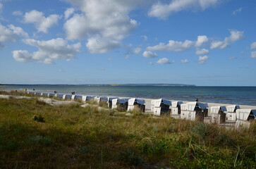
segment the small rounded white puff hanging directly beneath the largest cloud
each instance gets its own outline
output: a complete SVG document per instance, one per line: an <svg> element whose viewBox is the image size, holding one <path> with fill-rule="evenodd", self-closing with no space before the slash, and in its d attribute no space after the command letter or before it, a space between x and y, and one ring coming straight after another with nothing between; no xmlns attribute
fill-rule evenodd
<svg viewBox="0 0 256 169"><path fill-rule="evenodd" d="M108 38L92 37L86 44L91 54L106 54L121 46L121 42Z"/></svg>

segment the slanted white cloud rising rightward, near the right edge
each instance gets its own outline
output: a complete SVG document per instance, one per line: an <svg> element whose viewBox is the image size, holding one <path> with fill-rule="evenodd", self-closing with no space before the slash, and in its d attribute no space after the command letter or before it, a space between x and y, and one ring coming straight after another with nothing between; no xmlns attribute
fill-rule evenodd
<svg viewBox="0 0 256 169"><path fill-rule="evenodd" d="M232 43L237 42L238 40L244 39L243 31L230 30L231 35L225 37L224 41L214 41L211 43L211 49L226 49Z"/></svg>

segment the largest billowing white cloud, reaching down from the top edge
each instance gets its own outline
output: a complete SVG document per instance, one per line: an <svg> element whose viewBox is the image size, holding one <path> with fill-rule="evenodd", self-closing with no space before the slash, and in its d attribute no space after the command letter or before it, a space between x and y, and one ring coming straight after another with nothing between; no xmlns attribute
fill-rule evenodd
<svg viewBox="0 0 256 169"><path fill-rule="evenodd" d="M66 20L64 24L66 38L69 40L88 38L87 46L91 48L90 43L95 42L95 39L99 44L111 44L109 49L106 49L106 45L97 46L97 50L100 51L97 53L103 54L119 47L121 41L137 27L137 21L130 19L128 13L142 0L68 1L78 6L82 13L74 13L72 18ZM104 49L99 49L100 46ZM89 51L95 53L95 50L89 49Z"/></svg>

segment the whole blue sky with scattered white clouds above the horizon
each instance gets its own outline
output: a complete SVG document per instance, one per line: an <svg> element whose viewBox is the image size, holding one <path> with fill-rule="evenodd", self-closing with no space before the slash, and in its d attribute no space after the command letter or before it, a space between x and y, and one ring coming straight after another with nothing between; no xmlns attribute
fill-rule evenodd
<svg viewBox="0 0 256 169"><path fill-rule="evenodd" d="M256 86L255 0L0 0L0 84Z"/></svg>

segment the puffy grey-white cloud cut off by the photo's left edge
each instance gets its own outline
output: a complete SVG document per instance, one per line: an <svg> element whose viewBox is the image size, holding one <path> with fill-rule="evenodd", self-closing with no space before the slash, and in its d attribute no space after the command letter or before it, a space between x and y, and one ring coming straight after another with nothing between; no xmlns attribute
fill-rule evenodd
<svg viewBox="0 0 256 169"><path fill-rule="evenodd" d="M8 25L5 27L0 23L0 47L4 47L4 42L16 42L20 36L28 37L28 34L20 27Z"/></svg>

